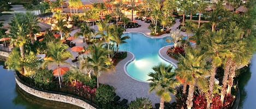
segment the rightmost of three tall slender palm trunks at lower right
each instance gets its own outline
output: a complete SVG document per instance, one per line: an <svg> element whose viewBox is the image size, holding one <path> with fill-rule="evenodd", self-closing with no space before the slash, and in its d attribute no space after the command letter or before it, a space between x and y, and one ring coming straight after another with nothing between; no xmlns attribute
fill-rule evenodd
<svg viewBox="0 0 256 109"><path fill-rule="evenodd" d="M235 61L232 61L232 65L230 66L230 72L229 72L227 95L231 95L231 87L233 87L234 77L236 74L235 71L236 71L236 63Z"/></svg>

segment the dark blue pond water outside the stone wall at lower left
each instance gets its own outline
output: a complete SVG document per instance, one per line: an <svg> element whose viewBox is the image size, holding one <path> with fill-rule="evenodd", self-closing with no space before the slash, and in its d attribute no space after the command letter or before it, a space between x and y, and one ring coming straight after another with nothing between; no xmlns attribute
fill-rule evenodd
<svg viewBox="0 0 256 109"><path fill-rule="evenodd" d="M58 108L80 108L74 105L62 102L44 100L26 92L17 87L13 70L3 68L3 61L0 61L0 108L8 109L58 109Z"/></svg>

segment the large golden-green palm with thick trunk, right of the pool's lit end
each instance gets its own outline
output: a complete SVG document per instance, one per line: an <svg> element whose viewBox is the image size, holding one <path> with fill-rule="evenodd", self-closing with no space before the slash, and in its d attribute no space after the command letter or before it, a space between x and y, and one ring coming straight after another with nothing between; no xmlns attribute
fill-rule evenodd
<svg viewBox="0 0 256 109"><path fill-rule="evenodd" d="M186 48L185 53L185 56L180 55L178 59L178 68L182 68L183 73L187 73L184 80L189 85L186 104L190 109L193 106L194 86L198 79L205 78L206 75L206 56L200 53L199 48Z"/></svg>

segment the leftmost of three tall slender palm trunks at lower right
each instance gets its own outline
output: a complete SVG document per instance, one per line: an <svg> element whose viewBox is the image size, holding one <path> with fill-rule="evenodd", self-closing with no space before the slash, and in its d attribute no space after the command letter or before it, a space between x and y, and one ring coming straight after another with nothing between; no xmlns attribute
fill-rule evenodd
<svg viewBox="0 0 256 109"><path fill-rule="evenodd" d="M210 104L212 101L212 91L213 91L213 86L214 86L214 80L215 80L215 74L216 74L216 66L215 63L212 61L212 68L211 68L211 76L210 76L210 80L209 80L209 93L208 96L209 98L207 99L207 109L210 108Z"/></svg>

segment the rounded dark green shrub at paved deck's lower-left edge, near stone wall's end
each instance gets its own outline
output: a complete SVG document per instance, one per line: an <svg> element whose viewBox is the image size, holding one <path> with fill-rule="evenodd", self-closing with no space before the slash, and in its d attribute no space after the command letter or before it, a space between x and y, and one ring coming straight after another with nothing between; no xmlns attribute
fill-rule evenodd
<svg viewBox="0 0 256 109"><path fill-rule="evenodd" d="M96 102L100 107L106 107L115 97L115 88L109 85L99 85L96 90Z"/></svg>

